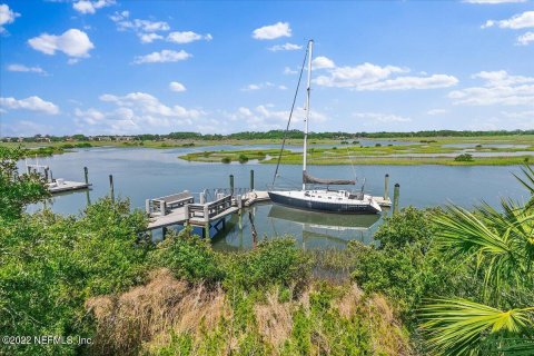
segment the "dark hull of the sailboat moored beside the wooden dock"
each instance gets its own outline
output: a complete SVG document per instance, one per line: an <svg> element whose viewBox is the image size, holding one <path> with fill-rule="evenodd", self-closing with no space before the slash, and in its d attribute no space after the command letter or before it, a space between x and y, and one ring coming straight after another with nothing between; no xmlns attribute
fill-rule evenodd
<svg viewBox="0 0 534 356"><path fill-rule="evenodd" d="M327 201L314 201L314 200L304 200L291 197L286 197L274 191L269 191L269 198L273 202L284 205L287 207L304 209L304 210L315 210L324 212L335 212L335 214L378 214L379 211L373 206L367 204L353 205L353 204L333 204Z"/></svg>

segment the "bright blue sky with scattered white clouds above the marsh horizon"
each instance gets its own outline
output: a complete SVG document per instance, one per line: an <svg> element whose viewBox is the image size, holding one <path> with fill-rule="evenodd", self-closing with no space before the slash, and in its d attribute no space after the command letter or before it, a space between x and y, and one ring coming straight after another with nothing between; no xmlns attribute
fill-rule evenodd
<svg viewBox="0 0 534 356"><path fill-rule="evenodd" d="M0 134L283 128L309 38L312 130L534 128L532 0L0 0Z"/></svg>

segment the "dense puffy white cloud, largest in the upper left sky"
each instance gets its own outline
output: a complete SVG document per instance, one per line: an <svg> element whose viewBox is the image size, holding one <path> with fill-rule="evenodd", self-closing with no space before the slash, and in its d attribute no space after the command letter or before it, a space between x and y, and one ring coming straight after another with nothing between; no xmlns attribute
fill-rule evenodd
<svg viewBox="0 0 534 356"><path fill-rule="evenodd" d="M69 57L89 57L89 51L95 48L86 32L78 29L70 29L60 36L42 33L28 40L34 50L46 55L55 55L61 51Z"/></svg>

